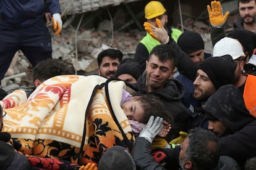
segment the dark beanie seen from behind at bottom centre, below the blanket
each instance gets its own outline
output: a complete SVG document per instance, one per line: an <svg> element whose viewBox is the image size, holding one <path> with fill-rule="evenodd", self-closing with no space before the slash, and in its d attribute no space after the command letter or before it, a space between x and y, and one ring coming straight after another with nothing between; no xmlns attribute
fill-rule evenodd
<svg viewBox="0 0 256 170"><path fill-rule="evenodd" d="M98 163L98 170L135 170L135 162L132 155L121 146L108 148Z"/></svg>

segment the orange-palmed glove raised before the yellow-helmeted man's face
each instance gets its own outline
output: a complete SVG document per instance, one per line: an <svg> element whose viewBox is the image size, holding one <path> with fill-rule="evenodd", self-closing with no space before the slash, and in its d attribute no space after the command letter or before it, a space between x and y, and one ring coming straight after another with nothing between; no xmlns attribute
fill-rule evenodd
<svg viewBox="0 0 256 170"><path fill-rule="evenodd" d="M161 44L166 44L169 42L169 36L167 31L164 29L164 27L161 25L161 21L156 18L156 26L151 25L151 23L145 22L143 24L144 28L148 33L155 38L157 41L159 41Z"/></svg>

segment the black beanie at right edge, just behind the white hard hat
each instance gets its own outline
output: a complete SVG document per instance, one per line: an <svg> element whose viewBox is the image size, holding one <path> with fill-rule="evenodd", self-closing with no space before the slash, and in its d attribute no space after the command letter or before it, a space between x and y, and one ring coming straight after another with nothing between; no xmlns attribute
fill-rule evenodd
<svg viewBox="0 0 256 170"><path fill-rule="evenodd" d="M252 56L256 48L256 34L249 30L235 30L228 33L228 37L237 39L244 50L249 52L249 57Z"/></svg>

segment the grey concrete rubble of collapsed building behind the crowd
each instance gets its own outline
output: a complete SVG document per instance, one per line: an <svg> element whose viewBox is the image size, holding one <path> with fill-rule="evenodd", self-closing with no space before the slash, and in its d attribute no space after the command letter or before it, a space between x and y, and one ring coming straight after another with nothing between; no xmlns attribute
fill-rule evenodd
<svg viewBox="0 0 256 170"><path fill-rule="evenodd" d="M201 3L202 6L197 6L197 3L191 4L187 0L181 3L182 24L176 3L173 13L168 14L171 25L180 30L200 33L205 41L205 51L211 53L210 26L206 10L210 1L204 1ZM145 21L142 10L145 4L146 1L138 1L129 4L131 9L125 4L116 4L93 12L62 15L64 24L61 34L56 36L51 24L48 25L52 38L53 58L72 64L78 75L93 75L98 73L96 57L104 49L119 49L124 53L124 58L134 57L137 44L145 36L142 26ZM230 6L228 4L228 7ZM137 13L137 21L131 18L129 10ZM239 19L237 10L234 11L225 25L226 30L230 30L233 23ZM141 25L138 26L138 23ZM30 89L33 87L32 69L26 57L18 51L1 86L8 92L14 89Z"/></svg>

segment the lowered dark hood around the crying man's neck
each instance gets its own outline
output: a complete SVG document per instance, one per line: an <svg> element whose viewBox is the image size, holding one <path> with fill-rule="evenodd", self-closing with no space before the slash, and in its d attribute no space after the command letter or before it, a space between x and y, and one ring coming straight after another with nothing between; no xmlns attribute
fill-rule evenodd
<svg viewBox="0 0 256 170"><path fill-rule="evenodd" d="M142 76L134 84L135 88L138 89L137 94L147 93L146 88L146 71L143 72ZM169 79L166 84L164 84L163 89L159 89L155 92L150 92L151 94L158 95L168 100L180 100L185 94L184 86L175 78Z"/></svg>

